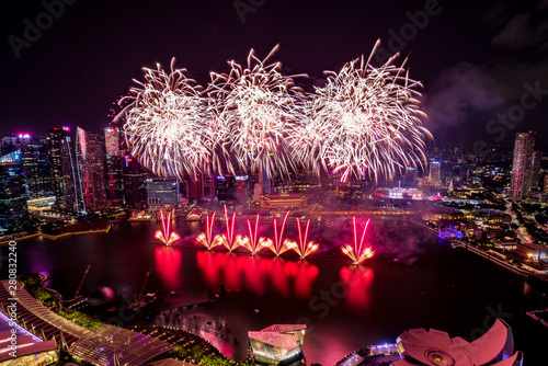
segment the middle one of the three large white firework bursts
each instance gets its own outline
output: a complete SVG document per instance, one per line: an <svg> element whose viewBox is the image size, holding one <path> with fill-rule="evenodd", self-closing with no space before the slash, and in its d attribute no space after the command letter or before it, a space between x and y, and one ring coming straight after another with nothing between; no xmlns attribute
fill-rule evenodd
<svg viewBox="0 0 548 366"><path fill-rule="evenodd" d="M261 60L251 49L247 68L229 61L230 72L212 72L208 94L215 100L216 130L221 150L233 173L236 164L247 171L288 174L287 138L301 117L302 91L290 77L279 73L281 62L266 61L278 46Z"/></svg>

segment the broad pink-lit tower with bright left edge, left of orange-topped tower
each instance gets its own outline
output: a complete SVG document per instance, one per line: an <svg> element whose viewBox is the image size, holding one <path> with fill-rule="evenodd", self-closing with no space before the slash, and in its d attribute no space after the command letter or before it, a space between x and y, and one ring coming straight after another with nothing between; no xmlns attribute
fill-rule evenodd
<svg viewBox="0 0 548 366"><path fill-rule="evenodd" d="M82 211L106 207L104 178L104 146L101 134L77 129L78 185L82 197Z"/></svg>

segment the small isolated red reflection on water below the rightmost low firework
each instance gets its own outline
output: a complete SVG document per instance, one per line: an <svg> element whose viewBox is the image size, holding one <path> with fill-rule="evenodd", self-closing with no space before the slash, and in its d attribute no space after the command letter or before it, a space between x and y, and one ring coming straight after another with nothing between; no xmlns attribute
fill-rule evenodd
<svg viewBox="0 0 548 366"><path fill-rule="evenodd" d="M373 270L361 266L342 267L341 281L347 286L345 301L358 309L369 304L369 286L373 283Z"/></svg>

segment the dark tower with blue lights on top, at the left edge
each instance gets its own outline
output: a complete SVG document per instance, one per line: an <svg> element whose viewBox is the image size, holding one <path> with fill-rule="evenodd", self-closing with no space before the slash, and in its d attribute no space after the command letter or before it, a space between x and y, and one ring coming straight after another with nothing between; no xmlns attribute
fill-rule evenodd
<svg viewBox="0 0 548 366"><path fill-rule="evenodd" d="M0 232L12 232L28 224L28 199L22 151L0 157Z"/></svg>

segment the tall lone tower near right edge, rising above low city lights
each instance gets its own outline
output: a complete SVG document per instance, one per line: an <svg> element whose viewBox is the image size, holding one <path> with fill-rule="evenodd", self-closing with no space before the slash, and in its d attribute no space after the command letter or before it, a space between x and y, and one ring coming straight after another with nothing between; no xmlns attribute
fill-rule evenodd
<svg viewBox="0 0 548 366"><path fill-rule="evenodd" d="M515 137L512 163L511 197L522 201L530 190L535 133L520 133Z"/></svg>

